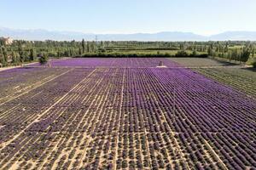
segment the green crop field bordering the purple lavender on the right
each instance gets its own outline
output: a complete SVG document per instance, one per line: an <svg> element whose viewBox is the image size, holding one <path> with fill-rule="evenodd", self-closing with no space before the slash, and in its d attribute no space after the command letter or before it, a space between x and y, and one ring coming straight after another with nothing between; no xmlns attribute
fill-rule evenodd
<svg viewBox="0 0 256 170"><path fill-rule="evenodd" d="M205 77L230 86L251 96L256 96L256 69L216 59L172 58L172 61L189 67Z"/></svg>

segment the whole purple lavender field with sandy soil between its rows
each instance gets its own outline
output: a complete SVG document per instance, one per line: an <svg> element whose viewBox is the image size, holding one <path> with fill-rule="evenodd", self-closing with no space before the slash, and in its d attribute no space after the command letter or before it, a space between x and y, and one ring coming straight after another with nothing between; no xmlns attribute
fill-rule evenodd
<svg viewBox="0 0 256 170"><path fill-rule="evenodd" d="M0 71L0 169L256 169L255 95L170 59L50 65Z"/></svg>

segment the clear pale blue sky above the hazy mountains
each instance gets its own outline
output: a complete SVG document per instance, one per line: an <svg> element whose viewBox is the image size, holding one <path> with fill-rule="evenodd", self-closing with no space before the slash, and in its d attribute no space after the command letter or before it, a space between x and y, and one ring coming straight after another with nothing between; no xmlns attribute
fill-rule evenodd
<svg viewBox="0 0 256 170"><path fill-rule="evenodd" d="M256 0L0 0L0 26L133 33L256 31Z"/></svg>

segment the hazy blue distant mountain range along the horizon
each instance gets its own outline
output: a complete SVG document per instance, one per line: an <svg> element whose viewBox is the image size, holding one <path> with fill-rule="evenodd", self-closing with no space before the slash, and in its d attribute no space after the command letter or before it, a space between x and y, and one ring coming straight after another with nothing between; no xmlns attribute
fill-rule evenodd
<svg viewBox="0 0 256 170"><path fill-rule="evenodd" d="M23 40L76 40L87 41L256 41L256 31L226 31L212 36L201 36L192 32L165 31L135 34L87 34L75 31L16 30L0 27L0 37Z"/></svg>

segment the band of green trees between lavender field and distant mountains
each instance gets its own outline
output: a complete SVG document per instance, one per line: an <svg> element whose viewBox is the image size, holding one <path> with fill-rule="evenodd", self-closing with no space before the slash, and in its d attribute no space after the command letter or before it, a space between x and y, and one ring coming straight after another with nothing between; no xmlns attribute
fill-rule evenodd
<svg viewBox="0 0 256 170"><path fill-rule="evenodd" d="M174 53L174 54L173 54ZM0 64L20 65L45 58L61 57L218 57L240 62L255 59L256 42L89 42L24 41L10 45L0 41Z"/></svg>

